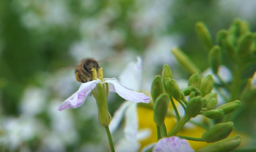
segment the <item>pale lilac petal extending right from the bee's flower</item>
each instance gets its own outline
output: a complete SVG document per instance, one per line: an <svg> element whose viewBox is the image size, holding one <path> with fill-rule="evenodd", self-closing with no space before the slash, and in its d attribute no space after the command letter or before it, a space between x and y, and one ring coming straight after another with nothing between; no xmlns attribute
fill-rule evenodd
<svg viewBox="0 0 256 152"><path fill-rule="evenodd" d="M122 98L132 101L132 102L144 102L144 103L149 103L150 97L146 96L143 93L138 93L131 91L127 87L122 86L122 84L116 79L116 78L105 78L103 83L109 83L109 86L112 85L113 89L109 91L113 91L118 93L119 96ZM111 87L110 87L111 88Z"/></svg>

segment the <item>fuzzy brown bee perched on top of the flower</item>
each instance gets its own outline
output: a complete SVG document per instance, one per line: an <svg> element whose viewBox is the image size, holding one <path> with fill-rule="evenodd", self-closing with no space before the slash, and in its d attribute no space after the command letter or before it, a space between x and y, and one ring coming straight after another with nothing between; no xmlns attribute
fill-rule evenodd
<svg viewBox="0 0 256 152"><path fill-rule="evenodd" d="M85 58L79 64L77 64L75 73L76 80L78 82L88 82L92 80L92 69L95 69L98 73L99 64L94 58Z"/></svg>

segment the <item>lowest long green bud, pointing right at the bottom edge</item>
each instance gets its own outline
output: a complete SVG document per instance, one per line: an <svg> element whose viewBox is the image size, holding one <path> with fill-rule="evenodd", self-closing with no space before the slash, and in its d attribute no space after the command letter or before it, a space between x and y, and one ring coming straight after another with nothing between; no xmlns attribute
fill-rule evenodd
<svg viewBox="0 0 256 152"><path fill-rule="evenodd" d="M220 140L210 146L200 149L197 152L229 152L237 148L241 143L241 137L236 135L231 138Z"/></svg>

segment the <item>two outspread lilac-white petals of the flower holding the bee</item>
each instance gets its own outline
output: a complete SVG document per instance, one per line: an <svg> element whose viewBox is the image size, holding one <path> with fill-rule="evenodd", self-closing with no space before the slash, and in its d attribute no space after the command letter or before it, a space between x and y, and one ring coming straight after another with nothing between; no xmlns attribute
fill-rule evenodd
<svg viewBox="0 0 256 152"><path fill-rule="evenodd" d="M132 101L132 102L144 102L149 103L150 97L144 95L143 93L138 93L131 91L131 89L122 86L122 84L116 78L104 78L103 82L100 79L82 83L78 91L67 98L58 108L59 111L68 108L80 107L84 102L86 97L91 93L91 91L96 87L97 83L109 83L109 91L116 92L122 98Z"/></svg>

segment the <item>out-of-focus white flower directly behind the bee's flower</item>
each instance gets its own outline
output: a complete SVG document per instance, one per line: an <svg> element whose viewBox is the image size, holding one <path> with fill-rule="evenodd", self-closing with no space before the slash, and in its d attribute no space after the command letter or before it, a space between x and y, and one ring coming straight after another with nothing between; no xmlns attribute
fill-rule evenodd
<svg viewBox="0 0 256 152"><path fill-rule="evenodd" d="M120 75L122 84L139 91L141 88L141 58L137 57L137 63L130 62ZM124 82L124 83L123 83ZM110 132L118 128L122 118L125 116L125 137L115 145L116 152L137 152L140 149L139 141L150 135L149 129L138 130L137 104L125 101L115 112L109 124Z"/></svg>

